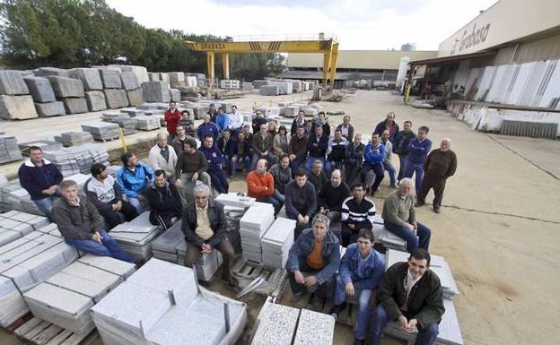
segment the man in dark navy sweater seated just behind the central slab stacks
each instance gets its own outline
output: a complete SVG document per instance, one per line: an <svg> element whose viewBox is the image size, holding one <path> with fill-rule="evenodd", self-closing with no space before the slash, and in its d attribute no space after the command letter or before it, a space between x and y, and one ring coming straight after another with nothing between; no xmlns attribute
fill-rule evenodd
<svg viewBox="0 0 560 345"><path fill-rule="evenodd" d="M317 193L315 187L307 180L307 172L299 169L295 179L286 185L285 206L286 215L296 220L294 237L299 237L302 229L311 226L311 219L317 211Z"/></svg>

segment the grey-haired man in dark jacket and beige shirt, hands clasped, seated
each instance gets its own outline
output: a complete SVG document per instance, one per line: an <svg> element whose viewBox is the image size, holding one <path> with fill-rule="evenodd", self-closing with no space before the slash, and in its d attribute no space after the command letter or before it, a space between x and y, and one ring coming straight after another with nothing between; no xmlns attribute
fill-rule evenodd
<svg viewBox="0 0 560 345"><path fill-rule="evenodd" d="M186 266L193 267L202 254L218 250L223 255L222 279L237 286L232 277L235 251L226 237L223 205L210 200L210 188L202 183L195 186L195 202L183 210L181 229L187 241Z"/></svg>

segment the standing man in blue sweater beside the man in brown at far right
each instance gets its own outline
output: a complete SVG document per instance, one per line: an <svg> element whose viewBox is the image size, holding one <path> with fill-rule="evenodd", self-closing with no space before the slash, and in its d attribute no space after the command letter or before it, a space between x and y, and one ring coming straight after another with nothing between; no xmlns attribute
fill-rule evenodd
<svg viewBox="0 0 560 345"><path fill-rule="evenodd" d="M424 179L424 162L428 153L432 151L432 142L427 138L430 129L425 125L418 128L418 137L411 140L408 144L407 165L404 177L412 178L416 173L415 188L416 194L422 190L422 180Z"/></svg>

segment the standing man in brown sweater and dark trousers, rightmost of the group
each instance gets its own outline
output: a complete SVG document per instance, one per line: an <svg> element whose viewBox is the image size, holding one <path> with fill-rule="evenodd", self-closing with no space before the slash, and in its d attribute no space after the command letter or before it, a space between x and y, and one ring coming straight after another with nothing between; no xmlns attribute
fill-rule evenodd
<svg viewBox="0 0 560 345"><path fill-rule="evenodd" d="M445 182L449 177L455 174L457 169L457 156L451 151L451 139L442 140L439 149L435 149L428 155L424 163L424 181L422 181L422 190L418 194L416 207L425 203L425 197L433 188L433 211L440 212L442 207L443 191L445 190Z"/></svg>

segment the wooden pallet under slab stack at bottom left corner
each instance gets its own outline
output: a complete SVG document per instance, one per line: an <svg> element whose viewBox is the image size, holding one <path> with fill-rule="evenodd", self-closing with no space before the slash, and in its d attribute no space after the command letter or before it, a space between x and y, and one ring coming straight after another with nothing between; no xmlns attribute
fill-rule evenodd
<svg viewBox="0 0 560 345"><path fill-rule="evenodd" d="M97 330L79 334L33 317L14 331L26 343L35 345L89 345L99 337Z"/></svg>

